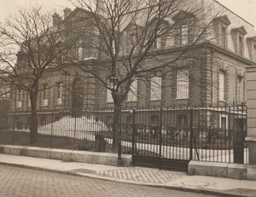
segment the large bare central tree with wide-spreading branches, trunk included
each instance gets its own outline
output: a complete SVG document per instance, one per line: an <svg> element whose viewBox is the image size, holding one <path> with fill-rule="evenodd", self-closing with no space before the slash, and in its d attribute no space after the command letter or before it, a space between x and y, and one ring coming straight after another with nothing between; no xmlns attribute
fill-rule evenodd
<svg viewBox="0 0 256 197"><path fill-rule="evenodd" d="M71 35L79 32L81 38L90 38L90 49L99 52L103 63L90 67L80 64L81 60L75 55L67 59L82 71L81 74L89 73L111 91L113 147L117 148L119 114L133 81L138 79L150 84L148 78L153 74L167 76L168 72L180 68L181 61L195 65L202 57L203 43L211 39L208 30L220 10L215 10L217 14L212 16L210 4L206 6L203 1L188 0L72 2L84 11L84 15L79 15L79 21L84 21L87 27L72 28ZM79 37L75 39L79 41Z"/></svg>

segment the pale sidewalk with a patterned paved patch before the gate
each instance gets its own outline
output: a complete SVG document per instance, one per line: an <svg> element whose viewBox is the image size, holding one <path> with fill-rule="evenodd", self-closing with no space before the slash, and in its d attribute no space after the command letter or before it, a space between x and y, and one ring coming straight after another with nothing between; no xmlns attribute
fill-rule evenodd
<svg viewBox="0 0 256 197"><path fill-rule="evenodd" d="M184 172L142 167L116 167L55 159L0 154L0 164L54 171L109 181L173 188L220 196L256 196L256 181L219 177L189 176Z"/></svg>

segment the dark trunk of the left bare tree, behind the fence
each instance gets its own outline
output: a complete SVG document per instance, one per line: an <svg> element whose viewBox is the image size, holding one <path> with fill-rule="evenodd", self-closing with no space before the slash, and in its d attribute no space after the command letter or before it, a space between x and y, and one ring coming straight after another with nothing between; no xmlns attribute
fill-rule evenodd
<svg viewBox="0 0 256 197"><path fill-rule="evenodd" d="M30 123L30 143L38 142L38 109L37 109L37 94L31 93L31 123Z"/></svg>

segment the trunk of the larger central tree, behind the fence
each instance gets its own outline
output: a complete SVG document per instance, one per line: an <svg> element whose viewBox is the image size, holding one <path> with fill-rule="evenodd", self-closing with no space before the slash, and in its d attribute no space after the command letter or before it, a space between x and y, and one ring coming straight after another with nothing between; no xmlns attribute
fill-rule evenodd
<svg viewBox="0 0 256 197"><path fill-rule="evenodd" d="M119 139L121 136L121 113L122 113L122 103L119 101L114 101L113 109L113 151L118 152Z"/></svg>

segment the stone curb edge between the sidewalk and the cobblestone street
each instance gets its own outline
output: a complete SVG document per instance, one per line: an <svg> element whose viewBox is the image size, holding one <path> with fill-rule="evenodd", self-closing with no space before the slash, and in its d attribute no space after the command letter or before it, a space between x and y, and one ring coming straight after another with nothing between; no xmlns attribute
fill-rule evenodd
<svg viewBox="0 0 256 197"><path fill-rule="evenodd" d="M116 183L128 183L128 184L136 184L136 185L142 185L142 186L148 186L148 187L154 187L154 188L166 188L166 189L174 189L179 190L183 192L192 192L192 193L201 193L201 194L212 194L212 195L221 195L221 196L228 196L228 197L241 197L241 194L233 194L226 191L221 190L213 190L213 189L204 189L204 188L189 188L189 187L182 187L182 186L168 186L158 183L141 183L141 182L134 182L130 180L125 179L119 179L114 177L102 177L97 175L92 175L90 173L81 173L81 172L75 172L75 171L63 171L58 169L49 169L46 167L39 167L39 166L32 166L32 165L20 165L20 164L14 164L14 163L5 163L0 162L0 165L8 165L8 166L14 166L14 167L20 167L20 168L27 168L32 170L38 170L38 171L49 171L49 172L55 172L55 173L61 173L65 175L71 175L71 176L79 176L79 177L88 177L88 178L94 178L104 181L111 181Z"/></svg>

